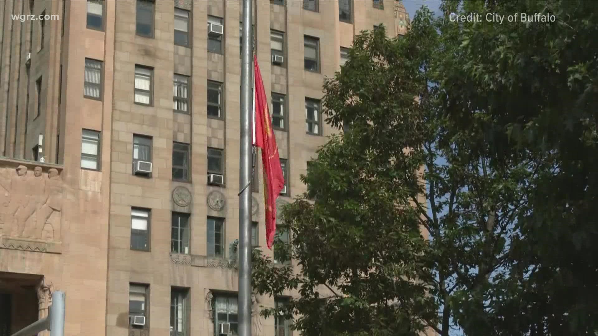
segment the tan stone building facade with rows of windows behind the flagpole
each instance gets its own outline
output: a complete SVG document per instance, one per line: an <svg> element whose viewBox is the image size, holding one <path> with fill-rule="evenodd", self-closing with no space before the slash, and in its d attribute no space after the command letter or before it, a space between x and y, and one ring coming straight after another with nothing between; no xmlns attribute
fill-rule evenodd
<svg viewBox="0 0 598 336"><path fill-rule="evenodd" d="M254 4L282 206L336 132L322 122L324 78L359 31L404 33L408 14L400 1ZM44 317L56 289L69 336L234 330L240 20L237 0L2 2L0 336ZM289 334L257 314L274 298L254 303L254 335Z"/></svg>

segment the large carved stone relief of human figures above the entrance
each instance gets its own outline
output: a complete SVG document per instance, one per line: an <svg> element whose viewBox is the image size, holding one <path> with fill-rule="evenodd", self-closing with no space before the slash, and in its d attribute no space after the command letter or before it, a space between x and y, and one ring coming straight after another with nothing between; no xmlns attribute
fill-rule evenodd
<svg viewBox="0 0 598 336"><path fill-rule="evenodd" d="M20 165L16 169L0 168L0 218L5 248L41 251L45 247L19 246L11 238L56 241L60 233L63 183L56 168L44 174L42 167L33 172ZM14 240L14 239L13 239Z"/></svg>

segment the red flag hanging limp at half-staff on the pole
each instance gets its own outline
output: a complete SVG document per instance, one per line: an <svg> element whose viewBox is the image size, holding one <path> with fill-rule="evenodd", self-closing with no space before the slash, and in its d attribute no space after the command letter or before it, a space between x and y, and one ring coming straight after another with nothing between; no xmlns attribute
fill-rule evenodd
<svg viewBox="0 0 598 336"><path fill-rule="evenodd" d="M261 148L264 169L264 205L266 207L266 244L272 249L276 232L276 197L285 186L285 178L280 167L280 157L276 138L272 132L272 122L266 99L266 90L261 78L257 56L254 55L254 144Z"/></svg>

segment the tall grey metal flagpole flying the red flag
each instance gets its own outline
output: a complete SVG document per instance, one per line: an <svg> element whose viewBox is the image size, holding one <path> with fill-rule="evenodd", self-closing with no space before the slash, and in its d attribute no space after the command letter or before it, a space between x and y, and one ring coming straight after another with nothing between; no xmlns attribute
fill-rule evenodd
<svg viewBox="0 0 598 336"><path fill-rule="evenodd" d="M239 336L251 336L251 166L252 166L252 29L251 0L243 0L241 41L241 140L239 198Z"/></svg>

